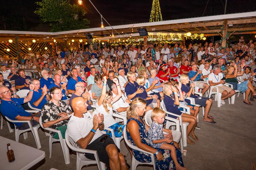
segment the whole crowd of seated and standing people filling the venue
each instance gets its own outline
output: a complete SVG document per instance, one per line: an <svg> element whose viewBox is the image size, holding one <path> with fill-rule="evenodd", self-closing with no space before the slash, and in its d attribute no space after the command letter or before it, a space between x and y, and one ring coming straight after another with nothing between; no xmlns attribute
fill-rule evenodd
<svg viewBox="0 0 256 170"><path fill-rule="evenodd" d="M166 111L189 123L187 143L195 144L199 140L195 129L201 129L197 125L200 106L204 122L216 123L210 115L212 97L205 96L211 88L216 92L214 87L218 87L221 106L236 91L245 93L244 104L252 105L249 96L251 101L256 96L254 44L241 37L226 48L213 42L188 46L152 42L72 52L65 48L58 49L56 55L47 50L43 54L20 53L19 58L0 56L0 111L12 120L31 121L33 126L41 116L44 128L60 130L63 138L66 132L79 147L96 150L100 161L113 170L128 167L104 127L113 129L115 137L121 137L126 129L131 144L155 154L156 169L186 169L172 130L163 129ZM33 78L26 76L27 69L37 71ZM27 96L18 98L19 90L28 90ZM28 102L41 111L26 112ZM182 106L187 106L190 114ZM148 111L152 112L151 126L144 121ZM114 112L125 113L127 124L116 122ZM27 123L15 122L14 126L29 128ZM50 134L59 138L55 132ZM138 161L151 161L148 154L127 148ZM91 154L85 157L94 159Z"/></svg>

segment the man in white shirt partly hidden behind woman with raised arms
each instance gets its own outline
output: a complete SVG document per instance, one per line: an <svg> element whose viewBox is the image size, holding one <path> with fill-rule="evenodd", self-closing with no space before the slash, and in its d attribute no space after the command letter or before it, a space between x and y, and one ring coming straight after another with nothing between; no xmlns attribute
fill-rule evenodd
<svg viewBox="0 0 256 170"><path fill-rule="evenodd" d="M111 89L112 89L113 98L114 98L118 94L115 83L112 83ZM115 103L113 103L112 106L117 112L126 112L127 108L129 107L129 103L131 103L131 101L129 99L126 99L124 94L122 93L122 97L119 100L117 100Z"/></svg>

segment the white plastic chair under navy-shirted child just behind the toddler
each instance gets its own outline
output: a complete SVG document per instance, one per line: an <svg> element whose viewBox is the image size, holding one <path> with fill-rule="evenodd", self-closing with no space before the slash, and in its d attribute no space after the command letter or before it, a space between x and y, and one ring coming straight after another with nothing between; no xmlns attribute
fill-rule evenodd
<svg viewBox="0 0 256 170"><path fill-rule="evenodd" d="M165 107L163 101L161 101L161 107L166 112L167 115L173 115L173 116L176 116L176 117L179 118L180 126L181 126L182 139L183 139L183 146L186 147L187 146L187 127L188 127L189 123L188 122L182 122L181 115L177 115L177 114L168 112L166 110L166 107ZM181 105L179 107L187 109L187 114L190 115L190 107L186 107L186 106L184 107L184 106L181 106ZM168 126L169 126L169 124L166 123L166 129L169 129Z"/></svg>

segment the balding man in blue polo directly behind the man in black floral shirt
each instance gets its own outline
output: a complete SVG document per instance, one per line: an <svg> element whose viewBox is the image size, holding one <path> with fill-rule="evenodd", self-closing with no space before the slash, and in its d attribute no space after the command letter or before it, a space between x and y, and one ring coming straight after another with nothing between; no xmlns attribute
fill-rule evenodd
<svg viewBox="0 0 256 170"><path fill-rule="evenodd" d="M52 83L49 86L49 91L51 90L52 87L60 87L60 90L63 93L61 100L64 101L65 103L68 103L68 98L66 96L66 95L69 95L69 92L67 90L67 83L61 83L61 77L59 74L55 74L53 79L54 79L54 83Z"/></svg>

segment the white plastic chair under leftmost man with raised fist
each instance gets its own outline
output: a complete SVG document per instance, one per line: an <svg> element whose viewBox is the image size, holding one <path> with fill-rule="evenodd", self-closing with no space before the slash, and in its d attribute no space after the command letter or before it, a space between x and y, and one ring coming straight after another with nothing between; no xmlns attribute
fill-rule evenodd
<svg viewBox="0 0 256 170"><path fill-rule="evenodd" d="M31 113L31 111L33 111L33 110L26 110L26 111L29 111L29 112ZM36 113L37 110L34 111L34 112ZM31 130L31 132L32 132L32 134L33 134L33 136L34 136L34 138L35 138L35 141L36 141L37 149L40 149L40 148L41 148L41 143L40 143L40 139L39 139L39 136L38 136L38 129L40 128L40 125L39 125L39 124L33 127L32 124L30 123L30 121L11 120L11 119L9 119L7 116L5 116L5 119L6 119L7 121L9 121L9 122L15 122L15 123L27 122L29 128L28 128L28 129L25 129L25 130L19 130L19 129L16 128L16 125L14 125L14 127L15 127L15 129L14 129L14 130L15 130L15 141L16 141L16 142L19 142L19 137L20 137L20 134L22 134L22 133L23 133L24 139L26 139L26 138L28 137L28 131Z"/></svg>

